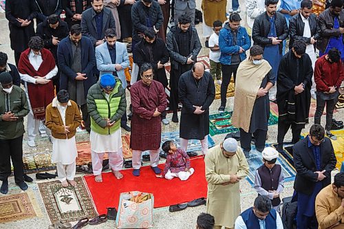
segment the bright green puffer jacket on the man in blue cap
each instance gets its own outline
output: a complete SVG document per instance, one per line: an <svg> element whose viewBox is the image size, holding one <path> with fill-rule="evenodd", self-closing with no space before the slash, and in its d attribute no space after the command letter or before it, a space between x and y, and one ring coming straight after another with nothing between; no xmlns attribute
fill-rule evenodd
<svg viewBox="0 0 344 229"><path fill-rule="evenodd" d="M96 109L99 115L105 120L107 118L111 120L111 118L114 116L114 114L118 110L118 106L120 105L122 94L124 93L125 91L122 89L122 84L120 83L120 80L116 80L116 86L114 87L114 90L111 91L111 94L109 94L109 100L107 100L107 98L105 97L105 93L100 88L99 83L93 85L89 89L89 94L92 94L92 97L94 98L94 102L96 103ZM126 101L124 102L126 103ZM115 124L112 127L103 128L100 127L91 116L91 129L96 133L102 135L110 135L111 133L117 131L119 128L120 118L115 122Z"/></svg>

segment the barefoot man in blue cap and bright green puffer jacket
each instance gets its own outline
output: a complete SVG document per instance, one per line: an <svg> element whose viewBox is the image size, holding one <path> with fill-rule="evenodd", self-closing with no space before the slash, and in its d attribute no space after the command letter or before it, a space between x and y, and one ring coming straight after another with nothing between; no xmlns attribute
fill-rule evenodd
<svg viewBox="0 0 344 229"><path fill-rule="evenodd" d="M91 117L90 142L96 182L103 182L104 153L109 155L109 165L116 178L123 177L120 173L123 165L120 118L126 107L125 90L113 75L104 74L98 83L89 88L87 110Z"/></svg>

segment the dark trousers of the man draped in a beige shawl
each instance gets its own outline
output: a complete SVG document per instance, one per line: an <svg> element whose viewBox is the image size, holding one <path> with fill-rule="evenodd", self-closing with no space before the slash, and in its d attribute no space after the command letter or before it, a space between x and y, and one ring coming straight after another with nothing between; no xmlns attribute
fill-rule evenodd
<svg viewBox="0 0 344 229"><path fill-rule="evenodd" d="M261 152L264 150L267 132L268 131L257 129L253 133L253 136L255 137L255 146L257 151ZM249 152L251 150L251 140L252 133L246 133L243 129L240 128L240 145L244 151Z"/></svg>

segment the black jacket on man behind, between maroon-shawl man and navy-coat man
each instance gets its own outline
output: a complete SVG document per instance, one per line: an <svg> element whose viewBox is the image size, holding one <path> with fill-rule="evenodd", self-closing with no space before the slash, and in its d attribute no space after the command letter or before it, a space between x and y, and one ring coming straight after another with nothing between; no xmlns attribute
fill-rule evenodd
<svg viewBox="0 0 344 229"><path fill-rule="evenodd" d="M69 34L67 23L58 20L58 27L56 29L50 28L47 19L37 26L36 36L40 36L44 41L44 47L52 52L57 63L57 45L52 44L52 36L57 37L58 41L62 41Z"/></svg>

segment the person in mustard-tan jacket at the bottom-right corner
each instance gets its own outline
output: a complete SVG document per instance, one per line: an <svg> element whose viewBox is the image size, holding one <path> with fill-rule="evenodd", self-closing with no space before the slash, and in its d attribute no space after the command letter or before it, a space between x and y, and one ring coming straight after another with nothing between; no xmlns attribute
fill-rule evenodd
<svg viewBox="0 0 344 229"><path fill-rule="evenodd" d="M316 195L315 213L319 229L343 228L344 173L337 173L333 184L327 185Z"/></svg>

